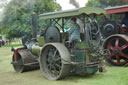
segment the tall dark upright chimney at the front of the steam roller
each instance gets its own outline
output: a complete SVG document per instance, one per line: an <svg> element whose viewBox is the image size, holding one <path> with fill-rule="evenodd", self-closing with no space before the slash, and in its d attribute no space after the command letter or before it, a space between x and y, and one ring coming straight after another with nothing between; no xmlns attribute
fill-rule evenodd
<svg viewBox="0 0 128 85"><path fill-rule="evenodd" d="M37 38L37 15L35 13L31 14L32 17L32 39L36 41Z"/></svg>

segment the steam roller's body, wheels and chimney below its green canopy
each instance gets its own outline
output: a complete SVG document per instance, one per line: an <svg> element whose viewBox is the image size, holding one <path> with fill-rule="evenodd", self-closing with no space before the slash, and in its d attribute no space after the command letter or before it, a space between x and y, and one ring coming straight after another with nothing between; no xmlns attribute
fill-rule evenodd
<svg viewBox="0 0 128 85"><path fill-rule="evenodd" d="M41 16L43 17L43 15ZM84 21L85 15L80 16L83 16ZM59 20L64 21L65 18L55 18L52 22L58 24ZM95 74L98 69L102 72L101 64L103 63L99 58L101 56L98 50L99 42L96 46L100 31L97 23L95 22L96 25L93 23L88 21L86 26L84 24L86 33L82 34L82 41L75 42L72 47L67 41L68 33L60 32L55 25L50 25L43 36L36 38L37 16L32 14L32 40L24 37L22 39L24 47L12 49L14 51L12 65L15 71L25 72L40 68L43 75L49 80L62 79L69 74ZM64 29L63 25L65 22L62 22L62 29ZM95 28L93 32L91 32L91 28ZM97 37L93 39L92 34Z"/></svg>

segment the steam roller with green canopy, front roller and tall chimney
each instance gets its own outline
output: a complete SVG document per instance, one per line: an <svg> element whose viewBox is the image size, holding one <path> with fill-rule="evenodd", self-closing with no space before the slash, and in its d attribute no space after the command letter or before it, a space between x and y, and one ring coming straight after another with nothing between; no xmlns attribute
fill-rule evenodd
<svg viewBox="0 0 128 85"><path fill-rule="evenodd" d="M49 27L36 36L37 15L32 14L33 38L22 39L24 47L14 51L12 65L16 72L25 72L40 67L49 80L58 80L70 73L78 75L103 71L100 59L101 34L96 21L97 15L104 15L101 8L79 9L40 14L40 19L49 20ZM83 23L81 42L68 42L65 26L72 17Z"/></svg>

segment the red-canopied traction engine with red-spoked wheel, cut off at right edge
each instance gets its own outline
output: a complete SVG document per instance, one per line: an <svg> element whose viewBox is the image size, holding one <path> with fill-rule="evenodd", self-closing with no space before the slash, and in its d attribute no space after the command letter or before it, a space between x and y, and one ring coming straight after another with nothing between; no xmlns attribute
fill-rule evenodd
<svg viewBox="0 0 128 85"><path fill-rule="evenodd" d="M105 59L114 66L127 65L128 26L126 24L128 18L126 16L128 16L128 5L106 8L106 11L109 20L104 22L101 30L104 37L107 37L104 41L104 48L109 50L110 55L105 56Z"/></svg>

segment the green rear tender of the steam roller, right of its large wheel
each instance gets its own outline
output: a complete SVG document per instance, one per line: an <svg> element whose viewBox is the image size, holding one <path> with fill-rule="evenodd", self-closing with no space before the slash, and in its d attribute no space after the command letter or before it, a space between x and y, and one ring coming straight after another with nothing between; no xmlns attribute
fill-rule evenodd
<svg viewBox="0 0 128 85"><path fill-rule="evenodd" d="M87 75L93 74L97 72L98 65L90 66L89 51L88 50L72 50L72 54L75 56L71 56L71 59L75 63L79 63L78 65L73 66L72 68L76 71L76 74Z"/></svg>

